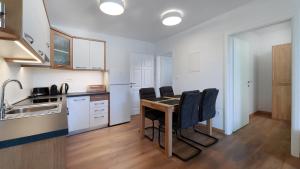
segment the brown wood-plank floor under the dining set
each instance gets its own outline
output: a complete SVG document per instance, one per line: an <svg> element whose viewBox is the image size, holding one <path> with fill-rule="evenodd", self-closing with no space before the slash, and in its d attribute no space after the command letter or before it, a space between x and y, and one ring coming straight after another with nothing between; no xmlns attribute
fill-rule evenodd
<svg viewBox="0 0 300 169"><path fill-rule="evenodd" d="M138 117L131 123L67 139L68 169L300 169L290 156L290 125L253 116L250 125L220 141L196 158L167 159L157 144L141 140Z"/></svg>

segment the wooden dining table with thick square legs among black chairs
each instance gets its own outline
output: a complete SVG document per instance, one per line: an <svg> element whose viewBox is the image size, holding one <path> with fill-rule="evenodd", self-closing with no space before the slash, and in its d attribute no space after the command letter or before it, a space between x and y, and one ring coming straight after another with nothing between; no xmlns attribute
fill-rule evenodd
<svg viewBox="0 0 300 169"><path fill-rule="evenodd" d="M179 106L180 98L156 98L152 100L142 99L140 103L141 118L140 118L140 135L144 138L145 135L145 108L151 108L164 112L165 114L165 132L164 132L164 152L167 157L172 157L172 120L173 112Z"/></svg>

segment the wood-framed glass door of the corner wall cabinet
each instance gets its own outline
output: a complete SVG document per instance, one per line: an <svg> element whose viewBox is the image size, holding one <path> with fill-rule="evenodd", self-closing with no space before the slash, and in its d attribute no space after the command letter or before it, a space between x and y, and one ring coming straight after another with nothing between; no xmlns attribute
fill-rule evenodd
<svg viewBox="0 0 300 169"><path fill-rule="evenodd" d="M52 68L72 69L72 38L51 30Z"/></svg>

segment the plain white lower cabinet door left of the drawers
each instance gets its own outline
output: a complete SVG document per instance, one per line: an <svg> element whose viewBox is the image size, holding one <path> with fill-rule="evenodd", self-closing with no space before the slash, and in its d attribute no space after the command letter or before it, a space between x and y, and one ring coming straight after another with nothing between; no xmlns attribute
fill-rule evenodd
<svg viewBox="0 0 300 169"><path fill-rule="evenodd" d="M68 128L69 132L88 129L90 127L90 97L68 98Z"/></svg>

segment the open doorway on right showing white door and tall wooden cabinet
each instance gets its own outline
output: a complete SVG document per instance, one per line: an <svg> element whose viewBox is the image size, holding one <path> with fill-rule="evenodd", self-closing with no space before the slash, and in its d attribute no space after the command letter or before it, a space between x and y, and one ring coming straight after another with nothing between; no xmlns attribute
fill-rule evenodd
<svg viewBox="0 0 300 169"><path fill-rule="evenodd" d="M264 113L291 120L291 23L282 22L230 37L233 55L232 131Z"/></svg>

